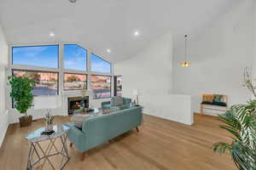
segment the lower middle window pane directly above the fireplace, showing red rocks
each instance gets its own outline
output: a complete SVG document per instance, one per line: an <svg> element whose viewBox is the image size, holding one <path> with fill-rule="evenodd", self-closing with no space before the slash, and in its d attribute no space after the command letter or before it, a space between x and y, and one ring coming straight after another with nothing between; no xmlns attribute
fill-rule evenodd
<svg viewBox="0 0 256 170"><path fill-rule="evenodd" d="M64 74L64 89L65 90L80 90L83 88L87 88L86 85L87 76L83 74Z"/></svg>

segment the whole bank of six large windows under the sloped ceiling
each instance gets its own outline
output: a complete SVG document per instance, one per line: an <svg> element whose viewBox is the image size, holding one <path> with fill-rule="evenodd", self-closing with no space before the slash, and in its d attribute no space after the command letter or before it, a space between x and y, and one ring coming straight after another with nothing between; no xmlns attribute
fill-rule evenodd
<svg viewBox="0 0 256 170"><path fill-rule="evenodd" d="M10 53L8 74L35 80L33 95L58 95L59 89L67 92L89 88L94 99L111 97L111 64L78 44L12 47ZM88 75L92 75L90 87ZM115 94L121 95L120 90L121 85L116 84Z"/></svg>

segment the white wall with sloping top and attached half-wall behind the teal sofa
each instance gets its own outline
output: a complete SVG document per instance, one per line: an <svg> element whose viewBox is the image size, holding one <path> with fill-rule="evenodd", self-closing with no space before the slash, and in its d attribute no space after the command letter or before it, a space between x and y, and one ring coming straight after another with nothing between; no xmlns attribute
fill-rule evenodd
<svg viewBox="0 0 256 170"><path fill-rule="evenodd" d="M141 91L139 104L144 106L144 113L186 124L193 122L190 97L171 94L171 33L151 42L131 59L116 63L114 74L123 76L123 96L134 99L133 90Z"/></svg>

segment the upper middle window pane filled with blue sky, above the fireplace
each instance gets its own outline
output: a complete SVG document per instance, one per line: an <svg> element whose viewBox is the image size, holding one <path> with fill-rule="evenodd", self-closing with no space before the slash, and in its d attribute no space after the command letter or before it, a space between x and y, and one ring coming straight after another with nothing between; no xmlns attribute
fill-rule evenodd
<svg viewBox="0 0 256 170"><path fill-rule="evenodd" d="M86 71L87 51L76 44L64 45L64 68Z"/></svg>

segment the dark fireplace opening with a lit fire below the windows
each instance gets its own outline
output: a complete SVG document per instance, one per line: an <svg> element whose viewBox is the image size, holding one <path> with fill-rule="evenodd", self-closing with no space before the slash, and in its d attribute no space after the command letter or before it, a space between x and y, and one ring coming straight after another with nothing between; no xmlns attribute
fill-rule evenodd
<svg viewBox="0 0 256 170"><path fill-rule="evenodd" d="M84 98L81 96L71 97L67 99L67 102L68 114L73 114L73 111L79 110L82 105L85 108L89 108L89 96L85 96Z"/></svg>

